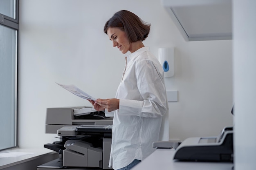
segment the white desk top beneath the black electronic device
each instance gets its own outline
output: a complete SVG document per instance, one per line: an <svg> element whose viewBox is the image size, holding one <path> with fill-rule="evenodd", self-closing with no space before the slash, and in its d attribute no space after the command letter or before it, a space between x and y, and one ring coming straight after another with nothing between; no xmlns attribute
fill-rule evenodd
<svg viewBox="0 0 256 170"><path fill-rule="evenodd" d="M132 170L232 170L233 163L173 160L175 150L157 149Z"/></svg>

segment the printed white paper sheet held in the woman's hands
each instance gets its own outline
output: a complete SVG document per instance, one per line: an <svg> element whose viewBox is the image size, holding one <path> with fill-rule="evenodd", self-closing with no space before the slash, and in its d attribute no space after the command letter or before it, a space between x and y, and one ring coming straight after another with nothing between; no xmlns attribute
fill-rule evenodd
<svg viewBox="0 0 256 170"><path fill-rule="evenodd" d="M74 95L77 95L78 97L81 97L83 99L93 100L93 101L96 100L94 97L92 97L89 94L85 93L84 91L82 91L81 89L79 89L78 87L76 87L73 84L70 84L70 85L64 85L64 84L59 84L59 83L56 83L56 84L58 84L59 86L65 88L67 91L73 93Z"/></svg>

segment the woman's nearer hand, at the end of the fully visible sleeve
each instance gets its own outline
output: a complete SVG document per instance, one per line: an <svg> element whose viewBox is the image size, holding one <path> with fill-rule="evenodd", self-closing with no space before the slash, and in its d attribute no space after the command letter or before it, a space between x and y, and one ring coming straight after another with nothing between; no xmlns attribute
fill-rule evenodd
<svg viewBox="0 0 256 170"><path fill-rule="evenodd" d="M97 107L101 106L108 110L108 112L112 112L114 110L119 109L119 99L96 99L94 103ZM95 108L97 110L97 108Z"/></svg>

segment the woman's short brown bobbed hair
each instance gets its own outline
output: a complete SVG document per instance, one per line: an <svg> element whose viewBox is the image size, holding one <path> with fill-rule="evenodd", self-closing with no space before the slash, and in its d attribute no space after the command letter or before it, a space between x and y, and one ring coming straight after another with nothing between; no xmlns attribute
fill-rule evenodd
<svg viewBox="0 0 256 170"><path fill-rule="evenodd" d="M108 34L109 27L117 27L126 32L129 42L143 41L148 37L150 25L134 13L121 10L106 22L104 32Z"/></svg>

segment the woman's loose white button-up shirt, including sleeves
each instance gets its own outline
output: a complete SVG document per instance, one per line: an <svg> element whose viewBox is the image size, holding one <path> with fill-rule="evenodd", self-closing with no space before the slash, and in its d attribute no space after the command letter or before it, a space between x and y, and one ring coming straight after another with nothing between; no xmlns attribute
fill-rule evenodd
<svg viewBox="0 0 256 170"><path fill-rule="evenodd" d="M155 150L152 143L159 140L162 116L168 113L164 70L148 47L127 55L116 98L109 166L119 169Z"/></svg>

